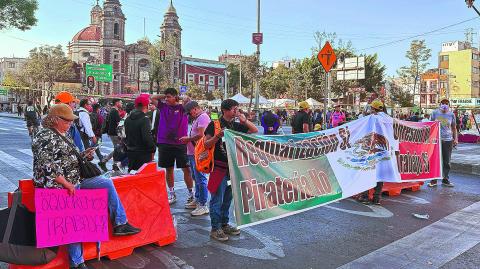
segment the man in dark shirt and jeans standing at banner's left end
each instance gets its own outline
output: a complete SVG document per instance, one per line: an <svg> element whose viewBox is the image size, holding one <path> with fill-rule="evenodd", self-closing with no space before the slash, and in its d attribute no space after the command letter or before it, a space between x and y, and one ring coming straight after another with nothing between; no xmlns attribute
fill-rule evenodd
<svg viewBox="0 0 480 269"><path fill-rule="evenodd" d="M231 226L229 221L229 210L232 202L232 187L230 186L230 175L228 173L228 158L225 143L223 140L224 129L230 129L242 133L256 133L257 127L247 120L245 115L238 111L238 102L226 99L221 104L222 116L220 118L221 131L215 133L215 124L210 122L205 130L205 147L215 147L214 170L209 177L210 198L210 221L212 231L210 237L218 241L227 241L228 235L239 235L240 230ZM238 117L239 122L235 121Z"/></svg>

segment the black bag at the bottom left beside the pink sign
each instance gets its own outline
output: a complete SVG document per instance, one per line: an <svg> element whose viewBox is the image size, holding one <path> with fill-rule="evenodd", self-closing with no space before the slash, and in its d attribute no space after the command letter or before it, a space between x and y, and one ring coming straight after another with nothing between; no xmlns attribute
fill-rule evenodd
<svg viewBox="0 0 480 269"><path fill-rule="evenodd" d="M21 192L13 194L11 208L0 210L0 261L18 265L42 265L52 261L58 247L37 248L35 214L21 204Z"/></svg>

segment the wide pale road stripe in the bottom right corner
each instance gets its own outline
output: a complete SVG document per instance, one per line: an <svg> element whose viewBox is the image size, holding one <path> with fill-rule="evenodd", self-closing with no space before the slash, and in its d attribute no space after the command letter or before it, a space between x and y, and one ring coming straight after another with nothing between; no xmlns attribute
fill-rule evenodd
<svg viewBox="0 0 480 269"><path fill-rule="evenodd" d="M348 268L440 268L480 243L480 202L351 261Z"/></svg>

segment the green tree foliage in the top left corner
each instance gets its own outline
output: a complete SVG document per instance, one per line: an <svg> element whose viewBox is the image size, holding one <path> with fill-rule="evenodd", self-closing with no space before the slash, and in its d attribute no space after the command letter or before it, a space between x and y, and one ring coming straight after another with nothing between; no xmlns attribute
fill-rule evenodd
<svg viewBox="0 0 480 269"><path fill-rule="evenodd" d="M37 9L37 0L0 1L0 30L6 28L29 30L37 23L35 18Z"/></svg>

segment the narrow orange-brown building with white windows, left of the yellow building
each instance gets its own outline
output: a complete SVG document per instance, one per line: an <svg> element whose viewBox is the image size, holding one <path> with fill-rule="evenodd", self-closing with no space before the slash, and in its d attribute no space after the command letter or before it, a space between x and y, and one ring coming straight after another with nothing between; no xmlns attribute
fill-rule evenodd
<svg viewBox="0 0 480 269"><path fill-rule="evenodd" d="M436 108L439 102L440 75L438 69L431 69L420 76L420 106Z"/></svg>

